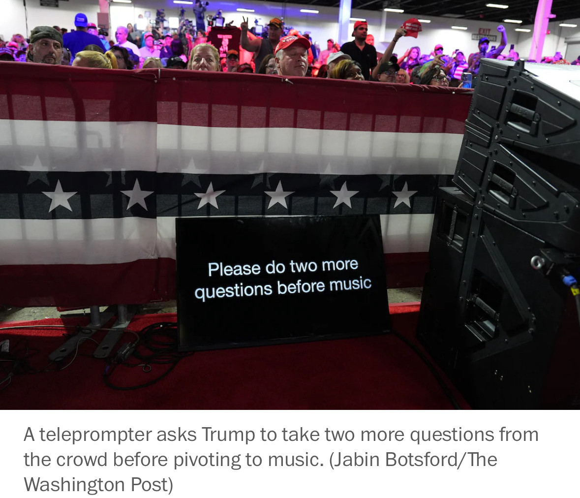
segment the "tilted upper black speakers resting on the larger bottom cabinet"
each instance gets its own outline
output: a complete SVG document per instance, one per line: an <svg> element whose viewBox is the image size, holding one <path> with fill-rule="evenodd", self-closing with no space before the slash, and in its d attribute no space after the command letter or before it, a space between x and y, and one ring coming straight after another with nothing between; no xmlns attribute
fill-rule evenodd
<svg viewBox="0 0 580 498"><path fill-rule="evenodd" d="M474 204L580 252L580 66L483 59L454 183Z"/></svg>

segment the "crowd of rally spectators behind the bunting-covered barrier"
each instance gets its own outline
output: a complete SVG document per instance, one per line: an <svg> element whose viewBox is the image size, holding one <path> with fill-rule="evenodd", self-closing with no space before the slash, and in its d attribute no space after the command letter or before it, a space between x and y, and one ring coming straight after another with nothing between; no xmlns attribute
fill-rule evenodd
<svg viewBox="0 0 580 498"><path fill-rule="evenodd" d="M444 46L437 44L433 50L413 46L398 56L394 53L396 44L407 35L403 27L395 31L384 53L376 51L368 24L361 20L354 24L352 41L339 46L328 39L327 48L319 50L310 41L309 34L296 30L284 34L281 19L271 19L267 36L259 37L248 30L248 20L242 18L241 46L220 57L218 49L208 43L208 33L200 29L193 36L190 30L183 29L183 23L174 33L164 33L152 24L138 31L128 24L117 27L111 38L89 23L83 13L75 16L74 25L75 29L70 32L58 26L37 26L28 40L21 34L14 34L9 42L0 39L0 60L126 70L173 68L462 86L465 73L470 75L470 80L477 78L481 59L520 58L514 45L504 53L507 37L503 26L497 28L501 34L498 46L490 47L490 40L482 37L472 53L455 49L451 55L445 55ZM241 63L242 53L247 62ZM553 57L544 57L541 62L570 64L559 52ZM580 56L571 64L580 64Z"/></svg>

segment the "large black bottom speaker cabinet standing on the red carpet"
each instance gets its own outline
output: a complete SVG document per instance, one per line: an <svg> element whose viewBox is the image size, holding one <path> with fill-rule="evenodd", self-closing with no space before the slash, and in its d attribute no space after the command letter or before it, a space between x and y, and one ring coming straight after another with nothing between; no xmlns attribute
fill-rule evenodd
<svg viewBox="0 0 580 498"><path fill-rule="evenodd" d="M557 272L530 264L551 244L454 193L469 216L458 251L445 240L449 194L440 190L419 340L474 408L574 407L580 326L571 293Z"/></svg>

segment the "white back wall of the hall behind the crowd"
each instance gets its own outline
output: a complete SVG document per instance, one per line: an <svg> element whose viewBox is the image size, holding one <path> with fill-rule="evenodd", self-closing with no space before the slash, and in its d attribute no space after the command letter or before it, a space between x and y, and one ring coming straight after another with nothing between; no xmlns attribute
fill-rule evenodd
<svg viewBox="0 0 580 498"><path fill-rule="evenodd" d="M9 39L14 33L26 33L26 23L24 20L24 7L22 0L1 0L2 17L0 18L0 34L3 39ZM99 12L98 0L69 0L61 1L59 8L41 7L39 0L28 0L28 33L34 26L57 25L60 27L73 28L74 16L78 12L84 12L89 22L97 22L96 13ZM253 13L236 12L240 6L255 9ZM182 5L177 5L172 0L133 0L131 5L111 3L111 34L115 27L125 26L127 23L134 23L139 14L144 14L146 10L151 12L154 19L157 8L164 8L166 17L178 17ZM190 5L183 5L187 10L186 17L194 20L193 11ZM320 13L309 14L300 13L300 9L318 9ZM310 31L311 38L317 42L322 49L326 48L328 38L338 41L338 8L316 7L312 5L299 5L297 3L276 3L267 1L244 1L227 2L211 1L208 7L209 14L215 14L217 9L222 9L226 22L234 21L235 26L239 26L242 16L249 17L250 26L253 26L254 19L258 19L260 24L267 24L272 17L282 17L287 26L298 29L301 33ZM380 10L353 10L352 17L361 17L368 20L369 33L375 35L375 45L379 52L383 52L388 45L394 31L401 26L405 20L411 17L408 14L387 13L386 30L381 33L381 20L383 12ZM451 53L454 49L461 49L466 53L474 52L477 49L477 42L472 41L472 33L478 33L479 28L490 28L491 33L498 35L498 41L491 45L499 44L499 33L496 31L497 24L487 21L474 21L462 19L448 19L446 17L432 17L430 24L423 24L423 31L418 38L401 38L396 47L396 53L402 55L405 49L418 45L422 52L430 52L436 44L442 44L445 53ZM578 20L570 20L572 24L578 24ZM563 20L550 23L552 34L546 36L544 44L544 55L552 56L557 50L565 54L564 38L580 35L578 28L561 28L558 26ZM353 21L354 24L354 21ZM451 30L451 26L466 26L466 31ZM516 24L505 24L507 29L508 49L510 44L516 45L516 50L522 57L527 57L531 47L531 33L516 33ZM532 28L531 26L527 26ZM351 38L349 38L351 39ZM507 52L507 50L506 50Z"/></svg>

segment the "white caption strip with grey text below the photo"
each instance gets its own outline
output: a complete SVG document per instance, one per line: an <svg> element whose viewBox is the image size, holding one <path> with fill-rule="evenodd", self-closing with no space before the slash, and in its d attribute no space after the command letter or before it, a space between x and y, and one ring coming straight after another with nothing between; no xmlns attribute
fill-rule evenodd
<svg viewBox="0 0 580 498"><path fill-rule="evenodd" d="M559 493L568 495L574 489L580 443L575 413L556 411L61 410L5 411L2 418L2 495L19 497L129 495L180 498L232 496L235 493L237 496L296 498L330 494L346 497L429 493L430 497L467 494L472 498L488 498L490 492L499 496L521 496L526 492L531 493L530 496L560 496ZM28 427L35 441L32 438L24 441ZM206 441L204 427L219 431L219 436L217 432L214 434L215 441ZM149 441L120 444L87 441L73 445L71 441L41 441L41 428L45 431L60 428L61 432L132 429L151 433ZM262 429L266 431L266 439L268 432L274 431L269 435L271 439L276 434L276 440L262 441ZM284 441L283 429L287 430L287 439L300 439L302 432L302 435L309 435L309 441ZM332 441L327 441L327 429L332 431L328 432ZM423 431L425 436L427 431L431 434L449 431L451 435L454 429L456 439L459 434L465 436L483 431L484 434L487 432L487 438L492 434L494 440L411 441L412 431ZM361 431L365 430L375 431L377 440L361 441ZM157 440L159 431L174 431L176 434L195 431L196 439L160 442ZM209 431L208 435L211 434ZM236 433L238 441L230 431L241 431ZM241 435L251 435L249 431L254 432L253 441L241 438ZM311 431L318 431L318 441L311 441ZM352 434L346 431L352 431ZM389 431L393 431L391 441L388 439ZM399 432L396 435L394 431ZM507 435L505 431L512 432ZM397 436L401 439L401 433L403 440L396 441ZM332 434L342 434L343 440L334 441ZM346 441L352 435L353 441ZM502 435L509 441L501 441ZM231 441L218 441L218 437ZM386 439L379 441L379 438ZM520 441L514 441L514 438L520 438ZM117 461L119 456L132 457L132 465L115 466L115 453ZM29 464L31 454L39 459L48 456L51 463L38 465L38 460L34 459L34 465L26 466L25 454ZM105 455L106 467L78 465L79 456L93 457L103 463ZM238 455L240 469L234 470ZM166 457L167 464L151 464L153 456ZM57 457L61 457L61 463L70 457L70 465L57 465ZM458 465L459 460L461 465ZM174 468L175 461L180 464L177 468ZM292 461L295 465L287 466ZM397 464L392 465L394 461ZM400 464L405 462L406 465ZM419 462L422 465L418 465ZM100 479L103 490L99 491L98 485L90 492L82 486L74 492L47 492L41 491L40 487L35 492L34 486L30 490L26 487L26 483L30 485L31 481L38 482L39 486L48 481L49 487L56 481L58 488L63 479L71 483L85 481L87 485ZM109 487L116 482L119 490L104 490L107 482ZM120 490L119 482L123 483L124 491Z"/></svg>

